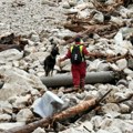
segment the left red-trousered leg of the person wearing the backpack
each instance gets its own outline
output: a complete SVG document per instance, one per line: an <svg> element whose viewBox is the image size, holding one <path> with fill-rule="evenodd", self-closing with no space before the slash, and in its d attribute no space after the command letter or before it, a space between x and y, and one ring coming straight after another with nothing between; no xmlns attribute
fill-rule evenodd
<svg viewBox="0 0 133 133"><path fill-rule="evenodd" d="M72 65L72 79L75 89L80 89L80 72L78 65Z"/></svg>

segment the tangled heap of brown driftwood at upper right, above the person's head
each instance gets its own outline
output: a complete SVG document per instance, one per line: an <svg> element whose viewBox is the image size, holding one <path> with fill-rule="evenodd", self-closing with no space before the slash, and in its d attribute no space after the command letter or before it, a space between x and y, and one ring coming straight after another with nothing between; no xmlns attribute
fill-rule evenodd
<svg viewBox="0 0 133 133"><path fill-rule="evenodd" d="M98 23L98 24L91 23L94 12L92 12L90 14L90 17L88 17L85 19L80 19L78 16L78 12L70 12L70 13L66 13L68 22L64 23L64 28L73 31L73 32L76 32L76 33L88 31L88 29L93 29L90 32L98 33L100 37L104 37L104 38L109 38L109 39L111 37L114 37L115 33L117 32L117 30L123 25L119 25L113 22L111 23L110 22L111 14L115 11L116 8L119 8L120 6L130 3L132 0L127 0L129 2L125 2L126 0L115 0L115 3L110 4L110 6L105 4L104 1L103 2L100 2L100 1L101 0L99 0L99 1L94 0L93 4L98 11L101 11L103 13L103 16L104 16L103 23ZM65 39L66 39L66 37L65 37ZM72 41L68 41L68 42L70 43Z"/></svg>

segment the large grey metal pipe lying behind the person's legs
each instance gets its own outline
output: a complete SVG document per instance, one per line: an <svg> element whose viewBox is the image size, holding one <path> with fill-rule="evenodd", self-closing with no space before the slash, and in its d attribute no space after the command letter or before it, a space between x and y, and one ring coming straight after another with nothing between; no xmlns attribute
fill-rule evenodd
<svg viewBox="0 0 133 133"><path fill-rule="evenodd" d="M115 79L112 71L88 72L85 78L86 84L110 83ZM48 88L72 85L72 75L70 73L55 74L53 76L43 76L41 81Z"/></svg>

